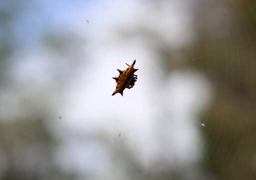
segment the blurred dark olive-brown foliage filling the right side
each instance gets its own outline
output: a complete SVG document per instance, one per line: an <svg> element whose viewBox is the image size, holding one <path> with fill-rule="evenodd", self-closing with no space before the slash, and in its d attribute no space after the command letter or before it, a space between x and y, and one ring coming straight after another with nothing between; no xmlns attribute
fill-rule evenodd
<svg viewBox="0 0 256 180"><path fill-rule="evenodd" d="M211 107L202 116L207 124L203 165L217 179L256 179L256 2L216 3L231 15L228 31L214 36L211 30L198 27L200 17L196 16L196 41L185 49L189 66L206 74L214 88ZM203 5L198 10L202 9L212 10Z"/></svg>

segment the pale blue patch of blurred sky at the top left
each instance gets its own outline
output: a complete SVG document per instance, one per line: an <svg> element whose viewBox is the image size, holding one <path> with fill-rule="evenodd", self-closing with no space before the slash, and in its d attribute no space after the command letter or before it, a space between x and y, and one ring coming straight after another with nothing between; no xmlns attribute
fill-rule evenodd
<svg viewBox="0 0 256 180"><path fill-rule="evenodd" d="M14 1L15 2L15 1ZM14 23L11 34L15 44L37 43L45 32L54 29L72 30L71 24L78 16L90 19L97 11L99 0L29 0L18 1L18 10L14 9ZM2 9L9 9L12 1L4 1Z"/></svg>

